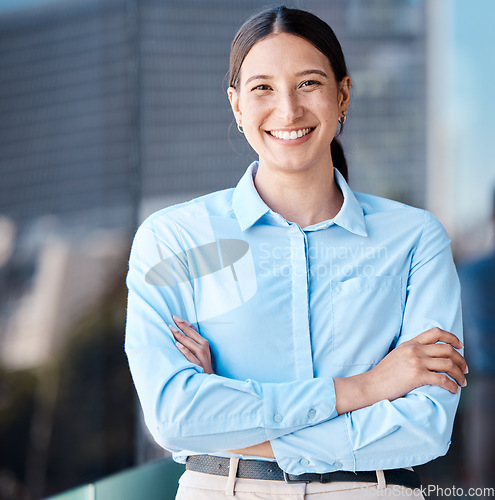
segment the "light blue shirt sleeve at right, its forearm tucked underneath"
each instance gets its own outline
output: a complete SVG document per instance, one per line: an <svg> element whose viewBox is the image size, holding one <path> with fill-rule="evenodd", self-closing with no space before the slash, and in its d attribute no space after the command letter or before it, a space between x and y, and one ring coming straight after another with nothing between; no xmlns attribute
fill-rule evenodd
<svg viewBox="0 0 495 500"><path fill-rule="evenodd" d="M462 340L460 286L442 225L428 212L414 251L397 345L433 327ZM383 470L426 463L450 445L460 394L422 386L271 442L292 474Z"/></svg>

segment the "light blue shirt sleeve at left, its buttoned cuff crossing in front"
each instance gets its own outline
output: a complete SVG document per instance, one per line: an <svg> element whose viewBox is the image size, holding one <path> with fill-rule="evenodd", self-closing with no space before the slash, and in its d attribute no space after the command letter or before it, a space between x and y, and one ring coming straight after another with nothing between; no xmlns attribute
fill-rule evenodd
<svg viewBox="0 0 495 500"><path fill-rule="evenodd" d="M168 325L173 314L194 322L193 280L174 221L165 214L156 221L145 221L132 245L125 351L158 444L173 452L223 451L335 418L331 378L232 380L206 375L185 359Z"/></svg>

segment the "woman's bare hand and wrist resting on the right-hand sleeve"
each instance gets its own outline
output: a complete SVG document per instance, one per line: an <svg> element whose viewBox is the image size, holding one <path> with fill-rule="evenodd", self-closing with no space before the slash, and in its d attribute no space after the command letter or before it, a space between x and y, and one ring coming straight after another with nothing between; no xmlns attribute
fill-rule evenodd
<svg viewBox="0 0 495 500"><path fill-rule="evenodd" d="M455 335L440 328L419 334L397 346L368 372L334 379L337 412L393 401L423 385L459 392L466 385L468 372L464 357L456 351L462 347Z"/></svg>

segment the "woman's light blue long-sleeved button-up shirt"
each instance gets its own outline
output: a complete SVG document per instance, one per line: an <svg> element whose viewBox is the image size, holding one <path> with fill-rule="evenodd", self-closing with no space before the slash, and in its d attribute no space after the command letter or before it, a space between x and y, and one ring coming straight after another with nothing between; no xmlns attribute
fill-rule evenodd
<svg viewBox="0 0 495 500"><path fill-rule="evenodd" d="M376 470L446 453L459 395L423 386L347 414L333 378L370 370L432 327L462 338L450 240L428 212L353 193L301 228L253 182L168 207L130 256L125 349L148 428L190 454L271 442L292 474ZM175 314L208 339L214 375L188 362Z"/></svg>

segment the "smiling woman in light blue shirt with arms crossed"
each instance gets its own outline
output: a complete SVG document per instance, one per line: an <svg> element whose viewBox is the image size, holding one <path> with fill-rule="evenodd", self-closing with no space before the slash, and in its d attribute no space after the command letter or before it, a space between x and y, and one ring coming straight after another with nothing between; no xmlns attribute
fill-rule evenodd
<svg viewBox="0 0 495 500"><path fill-rule="evenodd" d="M178 498L411 496L466 384L450 241L349 189L350 77L317 17L248 20L228 96L259 161L148 218L130 258L126 352L151 433L187 460Z"/></svg>

